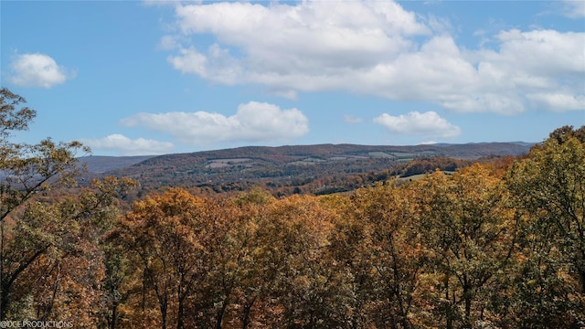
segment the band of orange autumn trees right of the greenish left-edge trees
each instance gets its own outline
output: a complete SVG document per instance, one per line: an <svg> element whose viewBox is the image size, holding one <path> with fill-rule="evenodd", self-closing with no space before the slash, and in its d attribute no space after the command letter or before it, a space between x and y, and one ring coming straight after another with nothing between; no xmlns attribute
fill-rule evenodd
<svg viewBox="0 0 585 329"><path fill-rule="evenodd" d="M343 195L148 196L109 233L132 269L115 325L579 328L581 130Z"/></svg>

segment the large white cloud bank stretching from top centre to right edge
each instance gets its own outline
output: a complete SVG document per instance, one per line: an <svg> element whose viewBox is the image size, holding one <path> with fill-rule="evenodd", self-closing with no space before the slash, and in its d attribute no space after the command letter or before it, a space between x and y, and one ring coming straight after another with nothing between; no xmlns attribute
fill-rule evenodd
<svg viewBox="0 0 585 329"><path fill-rule="evenodd" d="M491 48L467 49L449 22L392 1L176 5L176 27L162 41L175 48L175 69L287 98L342 90L459 112L585 109L585 33L512 29L484 36ZM214 43L186 42L200 34ZM568 97L550 101L558 90Z"/></svg>

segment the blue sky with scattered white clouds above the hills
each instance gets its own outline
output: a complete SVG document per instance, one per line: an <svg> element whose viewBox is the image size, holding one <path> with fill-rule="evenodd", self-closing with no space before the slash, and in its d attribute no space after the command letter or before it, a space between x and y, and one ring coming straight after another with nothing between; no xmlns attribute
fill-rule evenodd
<svg viewBox="0 0 585 329"><path fill-rule="evenodd" d="M539 143L585 125L585 1L0 2L20 143Z"/></svg>

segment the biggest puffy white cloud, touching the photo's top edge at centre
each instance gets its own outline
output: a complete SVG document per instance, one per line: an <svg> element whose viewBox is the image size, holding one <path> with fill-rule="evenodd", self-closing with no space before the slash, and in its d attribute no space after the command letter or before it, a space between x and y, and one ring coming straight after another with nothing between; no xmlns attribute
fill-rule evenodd
<svg viewBox="0 0 585 329"><path fill-rule="evenodd" d="M332 80L415 47L404 36L430 32L392 2L178 5L176 16L186 36L218 39L208 49L178 50L169 57L176 69L218 82L229 72L238 83L274 90L328 89ZM230 55L230 48L242 55Z"/></svg>

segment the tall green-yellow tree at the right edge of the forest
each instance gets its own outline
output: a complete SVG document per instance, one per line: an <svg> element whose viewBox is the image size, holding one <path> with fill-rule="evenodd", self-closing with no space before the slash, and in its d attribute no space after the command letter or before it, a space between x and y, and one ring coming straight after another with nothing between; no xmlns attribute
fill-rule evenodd
<svg viewBox="0 0 585 329"><path fill-rule="evenodd" d="M565 126L516 161L506 184L522 218L524 260L512 311L533 327L585 324L585 126ZM529 301L529 302L528 302Z"/></svg>

